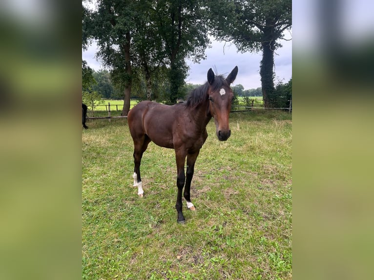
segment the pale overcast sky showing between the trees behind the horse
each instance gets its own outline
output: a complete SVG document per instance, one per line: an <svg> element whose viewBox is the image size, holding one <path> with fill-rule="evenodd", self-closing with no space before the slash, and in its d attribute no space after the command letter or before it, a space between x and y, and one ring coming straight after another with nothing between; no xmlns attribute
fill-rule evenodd
<svg viewBox="0 0 374 280"><path fill-rule="evenodd" d="M286 38L291 38L291 33L286 32ZM282 40L282 48L275 51L275 82L288 82L292 77L292 41ZM237 52L235 45L212 41L212 47L206 50L207 59L200 63L193 63L187 60L189 66L189 75L186 78L187 83L203 84L207 81L207 73L212 68L216 74L227 76L231 70L238 66L239 72L232 85L242 84L245 89L257 88L261 86L260 80L260 61L262 53L240 53ZM225 48L224 48L225 46ZM224 50L225 49L225 50ZM96 44L92 44L87 51L82 52L82 59L86 60L88 65L98 71L104 69L100 62L95 60Z"/></svg>

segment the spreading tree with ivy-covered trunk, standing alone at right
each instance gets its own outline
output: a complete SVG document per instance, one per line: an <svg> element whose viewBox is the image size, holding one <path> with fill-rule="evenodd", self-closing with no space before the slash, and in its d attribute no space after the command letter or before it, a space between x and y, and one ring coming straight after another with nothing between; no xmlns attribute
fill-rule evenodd
<svg viewBox="0 0 374 280"><path fill-rule="evenodd" d="M218 2L218 3L217 3ZM260 76L265 107L273 107L274 52L292 26L291 0L209 1L209 24L220 40L233 41L242 52L262 51Z"/></svg>

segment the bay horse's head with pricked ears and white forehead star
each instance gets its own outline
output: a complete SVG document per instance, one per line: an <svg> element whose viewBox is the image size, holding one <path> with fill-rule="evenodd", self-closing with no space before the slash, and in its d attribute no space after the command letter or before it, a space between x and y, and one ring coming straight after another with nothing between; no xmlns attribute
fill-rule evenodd
<svg viewBox="0 0 374 280"><path fill-rule="evenodd" d="M216 135L220 141L228 140L231 134L229 113L234 94L230 88L230 84L235 80L237 74L238 66L235 66L226 79L222 76L215 76L211 68L208 70L209 111L214 118Z"/></svg>

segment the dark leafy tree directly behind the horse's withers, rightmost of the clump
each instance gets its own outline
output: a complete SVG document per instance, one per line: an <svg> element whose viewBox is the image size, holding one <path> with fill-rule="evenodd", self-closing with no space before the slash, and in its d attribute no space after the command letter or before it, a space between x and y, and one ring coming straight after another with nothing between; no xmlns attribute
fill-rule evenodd
<svg viewBox="0 0 374 280"><path fill-rule="evenodd" d="M206 14L200 0L158 0L156 14L170 66L168 103L172 104L184 97L182 86L188 69L185 59L198 62L205 58L210 43Z"/></svg>

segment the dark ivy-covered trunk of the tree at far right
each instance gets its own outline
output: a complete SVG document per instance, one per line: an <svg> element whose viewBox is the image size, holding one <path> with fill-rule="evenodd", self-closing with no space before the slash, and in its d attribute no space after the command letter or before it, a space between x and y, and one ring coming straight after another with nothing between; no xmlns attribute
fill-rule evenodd
<svg viewBox="0 0 374 280"><path fill-rule="evenodd" d="M260 76L262 95L265 108L272 107L271 97L274 92L274 40L271 38L271 29L264 31L264 38L269 38L262 43L262 60Z"/></svg>

